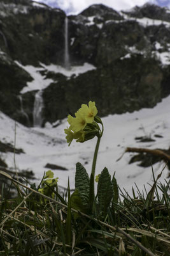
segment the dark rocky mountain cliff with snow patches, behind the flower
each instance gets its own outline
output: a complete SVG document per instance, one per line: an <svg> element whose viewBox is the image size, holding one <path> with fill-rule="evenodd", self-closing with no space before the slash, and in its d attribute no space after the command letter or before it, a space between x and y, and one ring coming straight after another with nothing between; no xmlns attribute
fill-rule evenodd
<svg viewBox="0 0 170 256"><path fill-rule="evenodd" d="M169 10L145 4L129 12L116 12L94 4L79 15L69 16L71 68L84 63L94 66L69 77L67 72L60 74L59 68L53 72L46 68L51 63L64 65L65 17L62 10L45 4L1 1L1 111L28 125L18 95L31 81L40 82L26 67L39 68L43 83L50 79L43 87L43 123L65 118L89 100L96 100L101 115L108 115L152 108L169 95ZM31 125L37 90L22 93Z"/></svg>

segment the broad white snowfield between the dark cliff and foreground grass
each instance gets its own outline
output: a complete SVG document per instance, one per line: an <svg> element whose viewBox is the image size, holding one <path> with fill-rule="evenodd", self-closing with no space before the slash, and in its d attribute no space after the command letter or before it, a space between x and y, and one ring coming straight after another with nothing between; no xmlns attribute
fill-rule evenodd
<svg viewBox="0 0 170 256"><path fill-rule="evenodd" d="M134 113L122 115L110 115L103 118L104 135L101 139L99 156L97 158L96 175L101 173L106 166L111 175L115 173L120 188L125 188L131 193L131 187L137 184L139 189L143 189L143 184L149 189L147 183L152 184L152 167L143 168L138 163L129 164L134 153L126 153L120 161L127 147L162 148L170 147L169 141L169 104L170 97L162 100L153 109L141 109ZM99 113L100 114L100 113ZM8 116L0 113L1 134L0 141L14 144L15 125ZM69 177L71 188L74 188L75 164L79 161L85 165L90 174L92 157L96 146L96 139L85 143L71 143L68 147L64 129L67 126L66 119L55 128L46 124L45 128L27 128L17 123L17 148L22 148L25 154L16 155L18 170L32 170L38 178L43 177L47 163L56 164L67 168L67 171L53 170L55 177L59 177L59 185L67 186ZM136 137L152 138L151 142L139 142ZM1 153L1 158L6 161L9 168L14 167L13 153ZM153 164L155 177L161 172L165 163ZM167 178L169 171L164 170L161 182Z"/></svg>

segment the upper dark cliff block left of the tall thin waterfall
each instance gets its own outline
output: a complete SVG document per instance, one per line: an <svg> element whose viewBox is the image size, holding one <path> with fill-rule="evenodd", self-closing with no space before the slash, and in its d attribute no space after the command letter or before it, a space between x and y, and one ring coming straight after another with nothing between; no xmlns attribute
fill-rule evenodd
<svg viewBox="0 0 170 256"><path fill-rule="evenodd" d="M65 13L29 0L4 2L0 3L0 29L6 44L1 49L23 65L61 61Z"/></svg>

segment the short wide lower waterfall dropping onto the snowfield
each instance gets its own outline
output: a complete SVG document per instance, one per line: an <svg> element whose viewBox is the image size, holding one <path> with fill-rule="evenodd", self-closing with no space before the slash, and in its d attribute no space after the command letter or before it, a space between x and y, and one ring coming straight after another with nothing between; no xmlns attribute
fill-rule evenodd
<svg viewBox="0 0 170 256"><path fill-rule="evenodd" d="M39 90L34 99L33 122L34 126L41 127L43 124L43 90Z"/></svg>

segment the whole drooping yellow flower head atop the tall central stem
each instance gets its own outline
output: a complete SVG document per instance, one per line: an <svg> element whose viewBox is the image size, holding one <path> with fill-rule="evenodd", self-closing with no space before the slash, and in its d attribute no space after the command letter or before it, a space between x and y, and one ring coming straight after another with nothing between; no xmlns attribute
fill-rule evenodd
<svg viewBox="0 0 170 256"><path fill-rule="evenodd" d="M64 129L66 140L69 145L73 140L76 142L84 142L91 140L94 136L101 136L101 129L97 123L101 123L101 118L97 115L95 102L89 101L87 104L82 104L81 108L75 113L75 117L68 115L67 122L69 127Z"/></svg>

